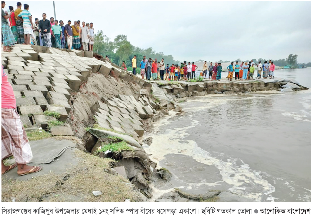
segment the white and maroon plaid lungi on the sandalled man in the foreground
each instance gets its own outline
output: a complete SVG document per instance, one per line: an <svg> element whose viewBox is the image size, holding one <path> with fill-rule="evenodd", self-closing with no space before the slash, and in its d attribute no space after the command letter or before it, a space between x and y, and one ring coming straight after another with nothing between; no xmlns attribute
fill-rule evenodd
<svg viewBox="0 0 313 218"><path fill-rule="evenodd" d="M1 109L1 158L12 156L18 164L33 158L26 131L17 109Z"/></svg>

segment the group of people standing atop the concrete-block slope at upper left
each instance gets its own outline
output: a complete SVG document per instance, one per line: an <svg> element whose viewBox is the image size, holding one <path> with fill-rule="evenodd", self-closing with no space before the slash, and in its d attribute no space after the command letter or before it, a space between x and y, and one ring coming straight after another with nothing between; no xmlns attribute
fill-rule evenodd
<svg viewBox="0 0 313 218"><path fill-rule="evenodd" d="M33 22L28 4L24 4L22 10L22 3L17 2L17 8L14 10L9 6L9 12L3 11L5 1L1 1L1 6L3 51L10 51L16 43L93 51L95 29L92 22L82 22L80 26L79 20L74 21L74 25L69 20L64 25L62 20L54 20L54 17L47 20L46 13L42 14L43 19L35 18Z"/></svg>

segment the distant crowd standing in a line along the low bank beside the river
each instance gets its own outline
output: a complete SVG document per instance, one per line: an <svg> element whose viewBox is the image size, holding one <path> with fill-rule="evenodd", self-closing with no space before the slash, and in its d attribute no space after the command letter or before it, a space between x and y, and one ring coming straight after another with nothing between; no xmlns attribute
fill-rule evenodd
<svg viewBox="0 0 313 218"><path fill-rule="evenodd" d="M137 68L137 56L135 55L134 58L131 61L132 68L133 68L133 74L136 75L136 68ZM149 58L147 59L146 56L143 56L143 59L141 60L140 64L140 75L141 78L144 79L146 76L147 80L152 79L153 80L192 80L195 78L195 72L198 68L197 65L195 65L194 62L188 64L186 61L182 62L179 66L178 64L166 64L164 63L164 59L162 58L161 62L157 61L157 59ZM122 63L122 68L127 70L125 61ZM215 81L221 81L222 78L222 64L221 63L215 63L213 65L213 62L210 62L210 65L207 65L207 61L204 61L203 69L200 72L200 76L203 78L207 78L208 80L215 80ZM231 62L231 64L227 67L228 69L228 81L233 80L233 72L235 72L235 80L253 80L254 77L254 71L257 70L257 78L261 78L261 76L264 79L267 79L270 77L270 79L274 78L274 71L275 71L275 65L274 62L269 60L269 63L267 61L264 62L264 64L261 64L261 61L259 61L259 64L255 64L253 60L248 62L242 61L241 64L238 64L238 61L236 61L236 64L234 65L234 62ZM263 71L263 74L262 74ZM165 74L165 75L164 75Z"/></svg>

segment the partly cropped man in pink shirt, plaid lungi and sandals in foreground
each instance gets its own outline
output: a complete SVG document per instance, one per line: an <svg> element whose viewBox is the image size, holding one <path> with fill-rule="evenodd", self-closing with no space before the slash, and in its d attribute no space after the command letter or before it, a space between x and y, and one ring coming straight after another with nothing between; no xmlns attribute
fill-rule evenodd
<svg viewBox="0 0 313 218"><path fill-rule="evenodd" d="M39 172L43 167L26 165L33 158L26 131L16 109L12 85L3 70L1 75L1 175L18 167L19 176ZM5 166L3 159L13 156L14 164Z"/></svg>

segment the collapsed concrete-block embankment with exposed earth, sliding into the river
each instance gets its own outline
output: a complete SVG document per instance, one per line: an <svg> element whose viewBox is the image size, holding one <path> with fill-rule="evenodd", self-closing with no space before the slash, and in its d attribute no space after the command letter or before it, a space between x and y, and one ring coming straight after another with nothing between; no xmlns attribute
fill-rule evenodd
<svg viewBox="0 0 313 218"><path fill-rule="evenodd" d="M96 58L92 58L93 56ZM157 84L142 80L92 52L62 51L40 46L17 45L12 52L2 54L2 61L8 80L13 86L18 112L27 131L34 130L41 135L45 132L49 137L75 136L83 140L85 151L100 158L110 159L104 171L99 164L97 173L93 173L93 167L87 166L83 167L87 169L79 172L84 172L85 177L92 174L94 178L103 173L104 178L109 179L111 174L119 174L124 177L121 184L124 184L125 180L129 181L133 184L132 187L140 191L139 201L149 201L148 198L152 196L150 184L155 177L170 179L170 172L158 169L142 148L142 136L151 122L169 114L170 110L183 114L182 108L175 103L174 98L278 89L278 81L161 81ZM46 131L38 131L38 128ZM40 137L44 138L46 135ZM84 158L88 159L88 156L83 156ZM90 164L88 161L87 163ZM78 174L75 171L69 175L74 177L72 175ZM67 179L68 176L65 177ZM110 184L106 179L101 181ZM80 182L81 187L84 187L84 181ZM32 185L31 182L30 184ZM88 187L89 184L85 186ZM13 190L13 187L10 190ZM177 194L169 194L159 201L188 201L187 194L179 191L177 193L185 199L180 199ZM42 200L44 195L45 193L38 194L35 201ZM218 195L220 193L210 192L206 200L214 199ZM128 196L131 197L131 194L127 194ZM92 197L88 199L95 201ZM123 197L116 199L121 201ZM201 196L193 198L196 201L203 199ZM137 201L138 197L131 200Z"/></svg>

